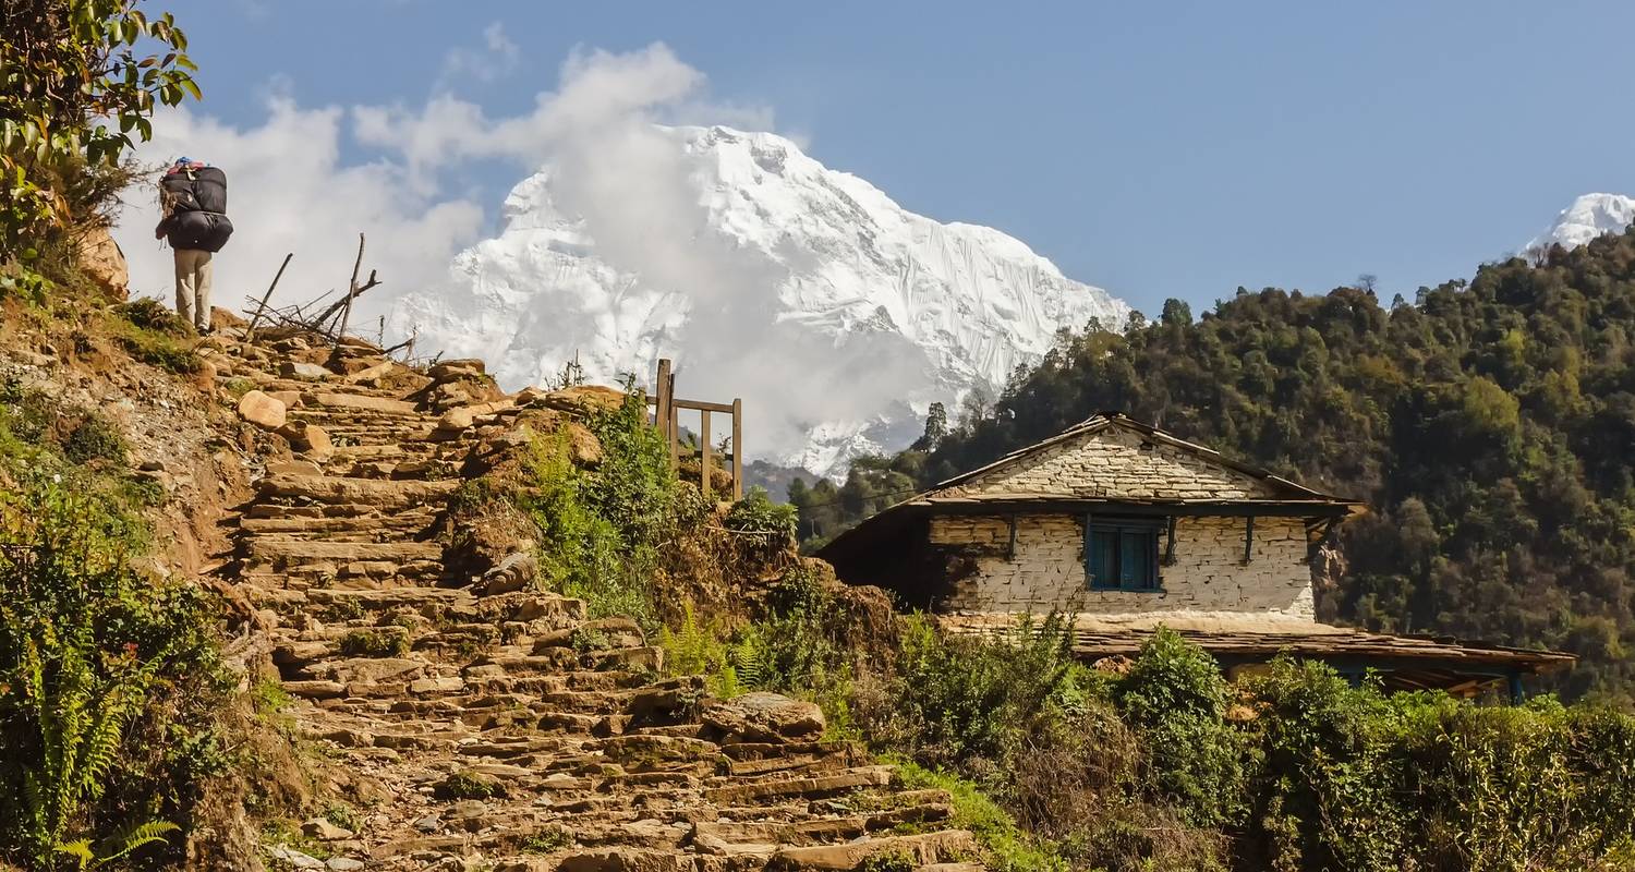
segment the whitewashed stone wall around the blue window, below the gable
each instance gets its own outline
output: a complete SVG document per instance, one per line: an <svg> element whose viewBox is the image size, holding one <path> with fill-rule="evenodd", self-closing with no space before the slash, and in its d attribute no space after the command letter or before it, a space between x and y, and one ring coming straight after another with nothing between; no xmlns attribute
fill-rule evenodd
<svg viewBox="0 0 1635 872"><path fill-rule="evenodd" d="M947 515L932 520L932 545L963 553L974 571L955 581L943 602L968 612L1151 612L1275 614L1311 620L1311 571L1300 519L1254 519L1254 551L1243 561L1244 519L1176 520L1176 561L1159 566L1161 591L1091 591L1084 581L1084 520L1079 515L1017 517L1015 548L1004 517ZM1159 533L1159 555L1166 542Z"/></svg>

